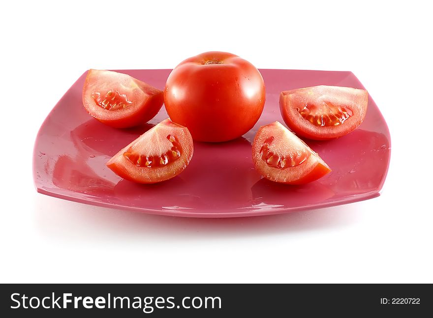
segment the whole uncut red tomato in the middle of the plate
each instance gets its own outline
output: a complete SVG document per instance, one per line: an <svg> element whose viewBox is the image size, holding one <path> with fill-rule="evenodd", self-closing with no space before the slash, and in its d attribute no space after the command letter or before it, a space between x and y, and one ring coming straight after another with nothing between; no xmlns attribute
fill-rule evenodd
<svg viewBox="0 0 433 318"><path fill-rule="evenodd" d="M224 142L257 122L265 105L265 84L247 60L207 52L176 66L167 79L164 103L171 120L187 127L194 140Z"/></svg>

